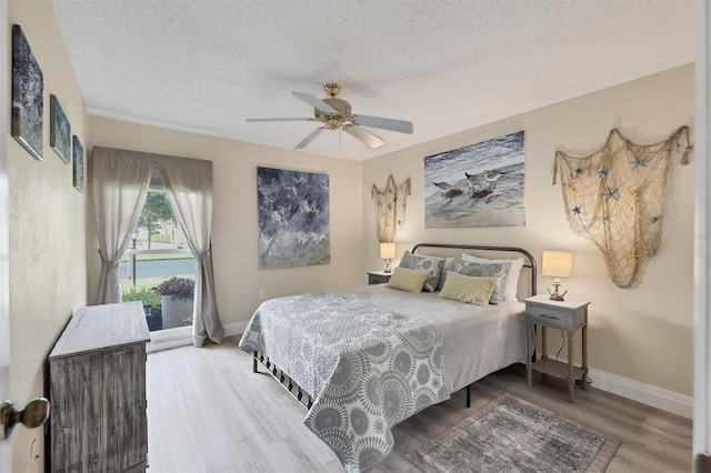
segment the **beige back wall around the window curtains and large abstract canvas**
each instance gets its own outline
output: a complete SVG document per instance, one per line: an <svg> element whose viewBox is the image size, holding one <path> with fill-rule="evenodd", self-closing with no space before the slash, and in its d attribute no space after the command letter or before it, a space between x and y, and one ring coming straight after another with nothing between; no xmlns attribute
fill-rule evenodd
<svg viewBox="0 0 711 473"><path fill-rule="evenodd" d="M247 321L269 299L300 292L362 284L361 163L301 151L269 148L214 137L89 118L91 145L211 160L214 207L212 251L220 319ZM329 174L331 263L279 270L257 269L257 167ZM91 210L92 212L92 210ZM89 217L89 296L96 301L99 259L93 217Z"/></svg>

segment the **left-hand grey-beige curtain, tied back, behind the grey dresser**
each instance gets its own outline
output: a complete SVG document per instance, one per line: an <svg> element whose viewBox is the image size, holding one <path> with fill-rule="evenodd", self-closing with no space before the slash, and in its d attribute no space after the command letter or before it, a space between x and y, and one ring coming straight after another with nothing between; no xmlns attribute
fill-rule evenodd
<svg viewBox="0 0 711 473"><path fill-rule="evenodd" d="M101 278L97 303L121 302L119 263L141 213L153 160L142 153L94 147L93 207L99 233Z"/></svg>

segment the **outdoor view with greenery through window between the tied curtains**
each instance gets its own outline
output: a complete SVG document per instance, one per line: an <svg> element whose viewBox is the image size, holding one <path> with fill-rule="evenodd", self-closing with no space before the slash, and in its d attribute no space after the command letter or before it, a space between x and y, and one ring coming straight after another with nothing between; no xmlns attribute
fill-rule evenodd
<svg viewBox="0 0 711 473"><path fill-rule="evenodd" d="M194 265L166 189L152 180L119 268L121 299L143 302L151 331L191 325Z"/></svg>

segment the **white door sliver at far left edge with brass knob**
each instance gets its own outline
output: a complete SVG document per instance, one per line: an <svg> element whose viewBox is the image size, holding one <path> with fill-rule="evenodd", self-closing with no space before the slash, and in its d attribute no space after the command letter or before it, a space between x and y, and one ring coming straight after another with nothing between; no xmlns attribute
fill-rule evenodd
<svg viewBox="0 0 711 473"><path fill-rule="evenodd" d="M8 1L0 0L0 63L10 64ZM10 135L9 73L0 74L0 402L10 399L10 282L8 246L8 137ZM0 472L12 465L10 442L0 440Z"/></svg>

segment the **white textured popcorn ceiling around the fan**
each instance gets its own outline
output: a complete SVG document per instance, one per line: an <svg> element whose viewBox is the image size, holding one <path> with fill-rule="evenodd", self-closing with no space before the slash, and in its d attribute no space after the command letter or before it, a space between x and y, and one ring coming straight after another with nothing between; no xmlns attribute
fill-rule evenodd
<svg viewBox="0 0 711 473"><path fill-rule="evenodd" d="M326 131L307 151L363 160L694 60L693 0L54 0L90 114L293 148L314 122L291 91L342 85L370 149Z"/></svg>

